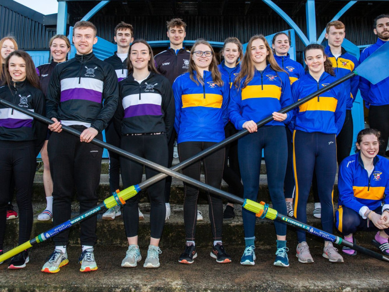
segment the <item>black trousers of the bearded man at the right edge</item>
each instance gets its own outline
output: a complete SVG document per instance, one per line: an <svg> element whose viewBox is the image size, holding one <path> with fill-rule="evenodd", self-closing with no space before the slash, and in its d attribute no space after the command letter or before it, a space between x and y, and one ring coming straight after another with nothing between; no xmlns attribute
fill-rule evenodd
<svg viewBox="0 0 389 292"><path fill-rule="evenodd" d="M369 109L369 125L372 129L377 129L381 132L379 155L384 156L388 147L389 139L389 105L370 106Z"/></svg>

